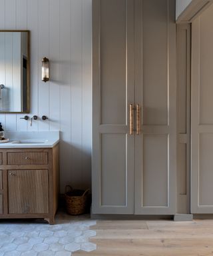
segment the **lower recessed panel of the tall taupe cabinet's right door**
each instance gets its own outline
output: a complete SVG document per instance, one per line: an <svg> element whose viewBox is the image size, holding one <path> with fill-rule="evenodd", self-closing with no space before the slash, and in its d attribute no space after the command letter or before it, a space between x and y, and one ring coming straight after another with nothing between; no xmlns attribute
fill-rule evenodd
<svg viewBox="0 0 213 256"><path fill-rule="evenodd" d="M167 135L144 135L142 206L168 206Z"/></svg>

